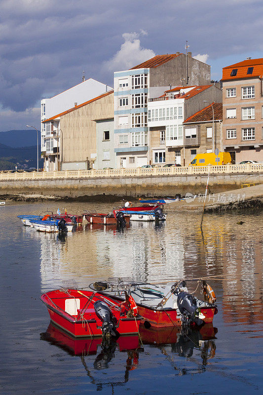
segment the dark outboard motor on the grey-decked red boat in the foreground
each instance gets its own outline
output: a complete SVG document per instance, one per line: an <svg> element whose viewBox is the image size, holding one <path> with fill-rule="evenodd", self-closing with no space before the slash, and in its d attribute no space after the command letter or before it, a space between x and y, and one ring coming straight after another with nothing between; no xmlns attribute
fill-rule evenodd
<svg viewBox="0 0 263 395"><path fill-rule="evenodd" d="M202 325L204 321L199 318L200 312L196 305L196 301L185 288L186 282L182 281L173 291L177 295L177 306L180 313L185 316L187 321L195 322L198 326ZM203 316L203 315L201 315Z"/></svg>

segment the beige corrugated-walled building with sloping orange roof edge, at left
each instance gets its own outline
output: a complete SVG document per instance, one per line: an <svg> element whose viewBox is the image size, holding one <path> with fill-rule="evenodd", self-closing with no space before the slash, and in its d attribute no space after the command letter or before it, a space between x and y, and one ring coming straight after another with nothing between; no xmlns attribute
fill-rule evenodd
<svg viewBox="0 0 263 395"><path fill-rule="evenodd" d="M42 123L57 124L60 156L55 156L61 170L87 170L95 168L97 160L97 126L101 119L113 118L113 90L77 104L73 108L45 119ZM54 129L53 129L54 130ZM108 136L105 136L106 140ZM51 147L54 152L54 147ZM107 157L108 158L108 157ZM46 158L46 161L48 159ZM50 170L49 170L50 171Z"/></svg>

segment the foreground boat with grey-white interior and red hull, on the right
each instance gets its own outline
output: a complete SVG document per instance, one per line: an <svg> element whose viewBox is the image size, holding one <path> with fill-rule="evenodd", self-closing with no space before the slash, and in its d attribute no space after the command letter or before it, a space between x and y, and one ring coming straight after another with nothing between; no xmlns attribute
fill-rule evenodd
<svg viewBox="0 0 263 395"><path fill-rule="evenodd" d="M133 297L138 313L147 325L154 327L181 326L192 322L196 325L212 322L217 314L216 297L212 288L203 282L204 301L188 292L186 281L170 282L165 287L149 283L122 281L94 282L89 287L116 300L123 298L124 290ZM213 293L211 298L205 295Z"/></svg>

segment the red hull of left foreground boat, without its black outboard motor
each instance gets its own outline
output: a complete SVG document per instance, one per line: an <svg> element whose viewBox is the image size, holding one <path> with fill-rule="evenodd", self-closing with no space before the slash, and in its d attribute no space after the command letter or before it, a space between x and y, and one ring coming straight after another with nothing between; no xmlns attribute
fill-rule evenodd
<svg viewBox="0 0 263 395"><path fill-rule="evenodd" d="M91 302L85 308L90 297L92 297ZM138 333L139 319L134 317L127 318L126 315L120 316L120 310L114 306L113 299L99 292L80 292L75 289L68 289L67 293L65 293L63 290L55 290L44 293L40 299L46 305L51 321L72 336L102 336L102 321L96 315L93 307L93 303L96 300L113 304L111 310L117 319L116 329L119 334L130 335ZM80 305L73 315L66 311L66 303L68 301L78 302Z"/></svg>

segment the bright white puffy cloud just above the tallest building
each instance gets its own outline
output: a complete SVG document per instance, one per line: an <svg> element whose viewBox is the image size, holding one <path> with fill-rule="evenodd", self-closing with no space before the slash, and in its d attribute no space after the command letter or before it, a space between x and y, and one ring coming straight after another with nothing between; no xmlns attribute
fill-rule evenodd
<svg viewBox="0 0 263 395"><path fill-rule="evenodd" d="M110 60L104 62L103 68L111 71L128 70L155 56L151 49L141 46L139 37L147 34L145 30L141 30L140 33L123 33L124 43Z"/></svg>

